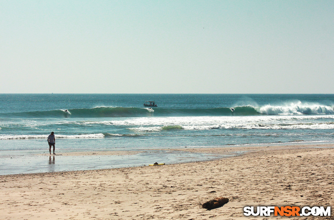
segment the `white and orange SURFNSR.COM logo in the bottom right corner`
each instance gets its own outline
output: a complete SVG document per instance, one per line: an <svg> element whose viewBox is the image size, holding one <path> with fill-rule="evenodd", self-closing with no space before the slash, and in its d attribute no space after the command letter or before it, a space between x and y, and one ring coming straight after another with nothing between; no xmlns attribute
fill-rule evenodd
<svg viewBox="0 0 334 220"><path fill-rule="evenodd" d="M330 206L326 209L323 206L305 206L302 208L299 208L298 206L246 206L243 208L243 211L245 216L270 216L272 213L274 216L331 216Z"/></svg>

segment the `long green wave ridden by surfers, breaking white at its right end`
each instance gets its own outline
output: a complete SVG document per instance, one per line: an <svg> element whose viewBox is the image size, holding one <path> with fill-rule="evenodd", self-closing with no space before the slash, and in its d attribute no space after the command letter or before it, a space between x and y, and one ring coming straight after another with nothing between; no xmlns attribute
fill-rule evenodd
<svg viewBox="0 0 334 220"><path fill-rule="evenodd" d="M66 111L67 110L67 111ZM0 118L121 118L179 116L260 116L260 115L334 115L332 106L292 102L285 105L235 106L219 108L138 108L95 107L1 113Z"/></svg>

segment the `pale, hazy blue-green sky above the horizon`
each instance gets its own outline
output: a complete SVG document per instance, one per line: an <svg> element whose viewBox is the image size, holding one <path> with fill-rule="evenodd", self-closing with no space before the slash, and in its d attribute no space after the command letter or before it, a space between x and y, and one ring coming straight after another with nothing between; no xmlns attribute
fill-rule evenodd
<svg viewBox="0 0 334 220"><path fill-rule="evenodd" d="M0 1L0 93L334 93L334 1Z"/></svg>

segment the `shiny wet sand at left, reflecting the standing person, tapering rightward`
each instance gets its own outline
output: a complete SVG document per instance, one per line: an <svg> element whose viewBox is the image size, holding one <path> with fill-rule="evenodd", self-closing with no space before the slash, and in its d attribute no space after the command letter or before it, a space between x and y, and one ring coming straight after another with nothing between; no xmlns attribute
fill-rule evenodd
<svg viewBox="0 0 334 220"><path fill-rule="evenodd" d="M231 154L168 149L146 149L144 151L57 149L56 155L50 155L49 152L43 150L1 151L0 175L141 167L155 162L179 164L215 160L228 156Z"/></svg>

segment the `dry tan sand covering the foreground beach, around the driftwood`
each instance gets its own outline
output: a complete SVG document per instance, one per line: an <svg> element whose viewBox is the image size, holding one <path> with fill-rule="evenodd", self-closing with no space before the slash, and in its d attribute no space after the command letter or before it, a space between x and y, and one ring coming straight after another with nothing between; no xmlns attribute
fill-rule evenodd
<svg viewBox="0 0 334 220"><path fill-rule="evenodd" d="M0 219L287 219L245 217L243 207L333 206L331 147L183 148L247 153L210 162L0 176ZM201 207L219 196L229 202Z"/></svg>

